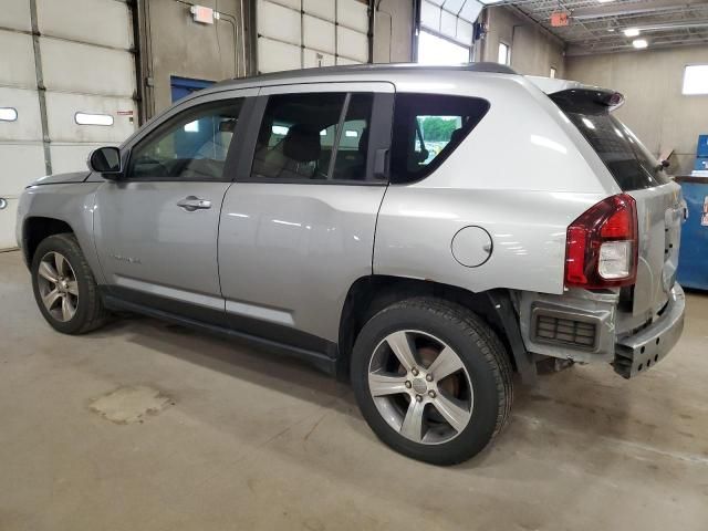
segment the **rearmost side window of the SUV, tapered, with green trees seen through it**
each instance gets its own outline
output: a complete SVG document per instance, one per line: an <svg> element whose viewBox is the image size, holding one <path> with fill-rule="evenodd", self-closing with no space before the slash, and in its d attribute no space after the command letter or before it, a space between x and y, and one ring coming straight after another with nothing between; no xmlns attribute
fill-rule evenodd
<svg viewBox="0 0 708 531"><path fill-rule="evenodd" d="M489 103L478 97L397 94L391 153L392 183L421 179L455 150L482 119Z"/></svg>

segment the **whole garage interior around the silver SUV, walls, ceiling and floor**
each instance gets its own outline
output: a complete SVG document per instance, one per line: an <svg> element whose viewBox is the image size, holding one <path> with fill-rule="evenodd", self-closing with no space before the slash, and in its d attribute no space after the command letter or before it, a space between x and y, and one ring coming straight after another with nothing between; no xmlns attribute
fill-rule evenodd
<svg viewBox="0 0 708 531"><path fill-rule="evenodd" d="M494 445L450 468L378 442L348 385L252 345L134 316L55 333L14 220L32 180L85 170L92 149L195 91L360 63L499 62L616 90L617 116L704 201L708 1L199 2L3 1L0 530L706 530L708 227L696 217L671 354L629 382L574 365L517 385Z"/></svg>

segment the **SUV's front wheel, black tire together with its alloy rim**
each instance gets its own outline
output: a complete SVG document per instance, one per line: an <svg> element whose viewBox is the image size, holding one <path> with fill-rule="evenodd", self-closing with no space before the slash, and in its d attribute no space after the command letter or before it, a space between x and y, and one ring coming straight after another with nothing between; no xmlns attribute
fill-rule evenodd
<svg viewBox="0 0 708 531"><path fill-rule="evenodd" d="M42 240L30 269L37 305L54 330L85 334L107 321L96 281L74 235L54 235ZM53 300L49 308L45 300Z"/></svg>

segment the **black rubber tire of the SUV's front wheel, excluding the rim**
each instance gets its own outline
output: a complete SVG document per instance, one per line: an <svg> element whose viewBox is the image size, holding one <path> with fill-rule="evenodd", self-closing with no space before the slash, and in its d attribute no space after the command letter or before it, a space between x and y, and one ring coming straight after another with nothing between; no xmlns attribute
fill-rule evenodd
<svg viewBox="0 0 708 531"><path fill-rule="evenodd" d="M59 252L71 266L77 284L77 300L75 313L67 321L61 321L50 313L42 302L40 293L40 263L48 253ZM56 331L64 334L85 334L105 324L108 312L98 294L93 272L84 258L76 238L72 233L54 235L45 238L38 246L32 257L32 289L34 300L46 322Z"/></svg>

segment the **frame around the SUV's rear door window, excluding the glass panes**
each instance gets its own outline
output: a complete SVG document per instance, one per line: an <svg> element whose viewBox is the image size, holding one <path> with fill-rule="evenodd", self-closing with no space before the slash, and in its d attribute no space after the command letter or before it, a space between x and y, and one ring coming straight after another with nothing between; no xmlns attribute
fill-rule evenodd
<svg viewBox="0 0 708 531"><path fill-rule="evenodd" d="M358 85L358 86L357 86ZM387 85L391 91L382 90ZM310 178L280 178L280 177L253 177L251 169L253 165L253 157L256 156L256 143L258 139L258 133L260 131L268 101L270 96L281 95L299 95L299 94L316 94L316 93L343 93L345 94L344 105L340 113L340 122L337 126L336 138L334 140L334 149L332 150L332 157L330 159L330 167L327 168L327 179L310 179ZM346 121L346 114L348 111L348 102L354 94L371 93L373 95L372 103L372 116L368 125L368 148L366 152L366 176L364 179L332 179L329 178L333 165L336 163L336 156L339 152L340 137L342 135L342 125ZM394 91L393 85L389 83L325 83L316 85L277 85L268 86L261 90L260 95L256 98L256 105L253 113L249 118L247 126L249 134L243 143L243 150L238 163L238 170L236 173L237 183L251 183L263 185L308 185L308 186L385 186L388 184L388 165L386 164L385 173L386 177L383 179L374 178L374 165L375 157L372 156L375 152L384 149L388 152L391 149L391 133L393 125L393 105L394 105Z"/></svg>

